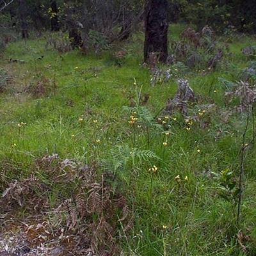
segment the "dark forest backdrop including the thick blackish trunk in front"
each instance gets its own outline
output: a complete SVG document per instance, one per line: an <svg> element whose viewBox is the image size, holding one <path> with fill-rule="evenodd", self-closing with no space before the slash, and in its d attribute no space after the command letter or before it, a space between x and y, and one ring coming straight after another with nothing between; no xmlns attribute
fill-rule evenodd
<svg viewBox="0 0 256 256"><path fill-rule="evenodd" d="M196 31L208 25L215 33L229 33L230 28L242 33L256 31L256 5L249 0L0 0L0 10L4 42L17 40L20 27L22 38L38 35L36 31L76 30L75 44L83 41L93 51L95 45L109 49L116 41L127 40L144 11L145 61L150 52L166 60L168 22L193 24ZM77 28L77 22L83 28Z"/></svg>

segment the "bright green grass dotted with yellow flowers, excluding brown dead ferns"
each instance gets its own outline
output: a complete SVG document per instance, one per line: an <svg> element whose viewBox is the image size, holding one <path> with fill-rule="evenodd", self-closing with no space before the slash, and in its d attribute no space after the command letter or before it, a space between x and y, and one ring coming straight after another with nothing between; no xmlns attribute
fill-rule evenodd
<svg viewBox="0 0 256 256"><path fill-rule="evenodd" d="M178 38L179 26L170 30ZM189 107L189 117L184 118L180 113L160 115L168 97L177 91L176 77L150 85L138 38L134 36L123 46L128 54L119 65L112 52L102 56L83 56L79 51L60 54L45 51L45 40L8 45L1 60L1 67L12 77L0 95L1 192L15 180L33 174L52 188L47 192L48 212L72 198L81 182L72 168L65 167L71 176L61 183L55 180L54 161L49 166L39 164L42 157L58 154L61 159L74 159L79 166L97 166L97 177L106 173L115 177L109 182L124 195L132 218L129 230L124 223L116 225L123 255L255 255L252 113L244 136L244 143L253 141L244 150L238 223L237 205L232 208L230 199L234 191L221 186L220 175L212 174L230 170L231 179L238 183L246 114L229 114L239 100L229 102L225 93L239 80L237 70L248 67L240 48L255 44L254 40L230 43L231 54L225 61L233 68L223 61L209 72L177 70L198 97L198 103ZM35 60L43 55L42 60ZM26 62L8 62L10 58ZM140 93L150 96L145 106L138 102ZM230 202L221 198L223 191ZM40 188L37 193L45 196ZM29 214L26 207L24 212ZM237 241L241 230L246 252Z"/></svg>

